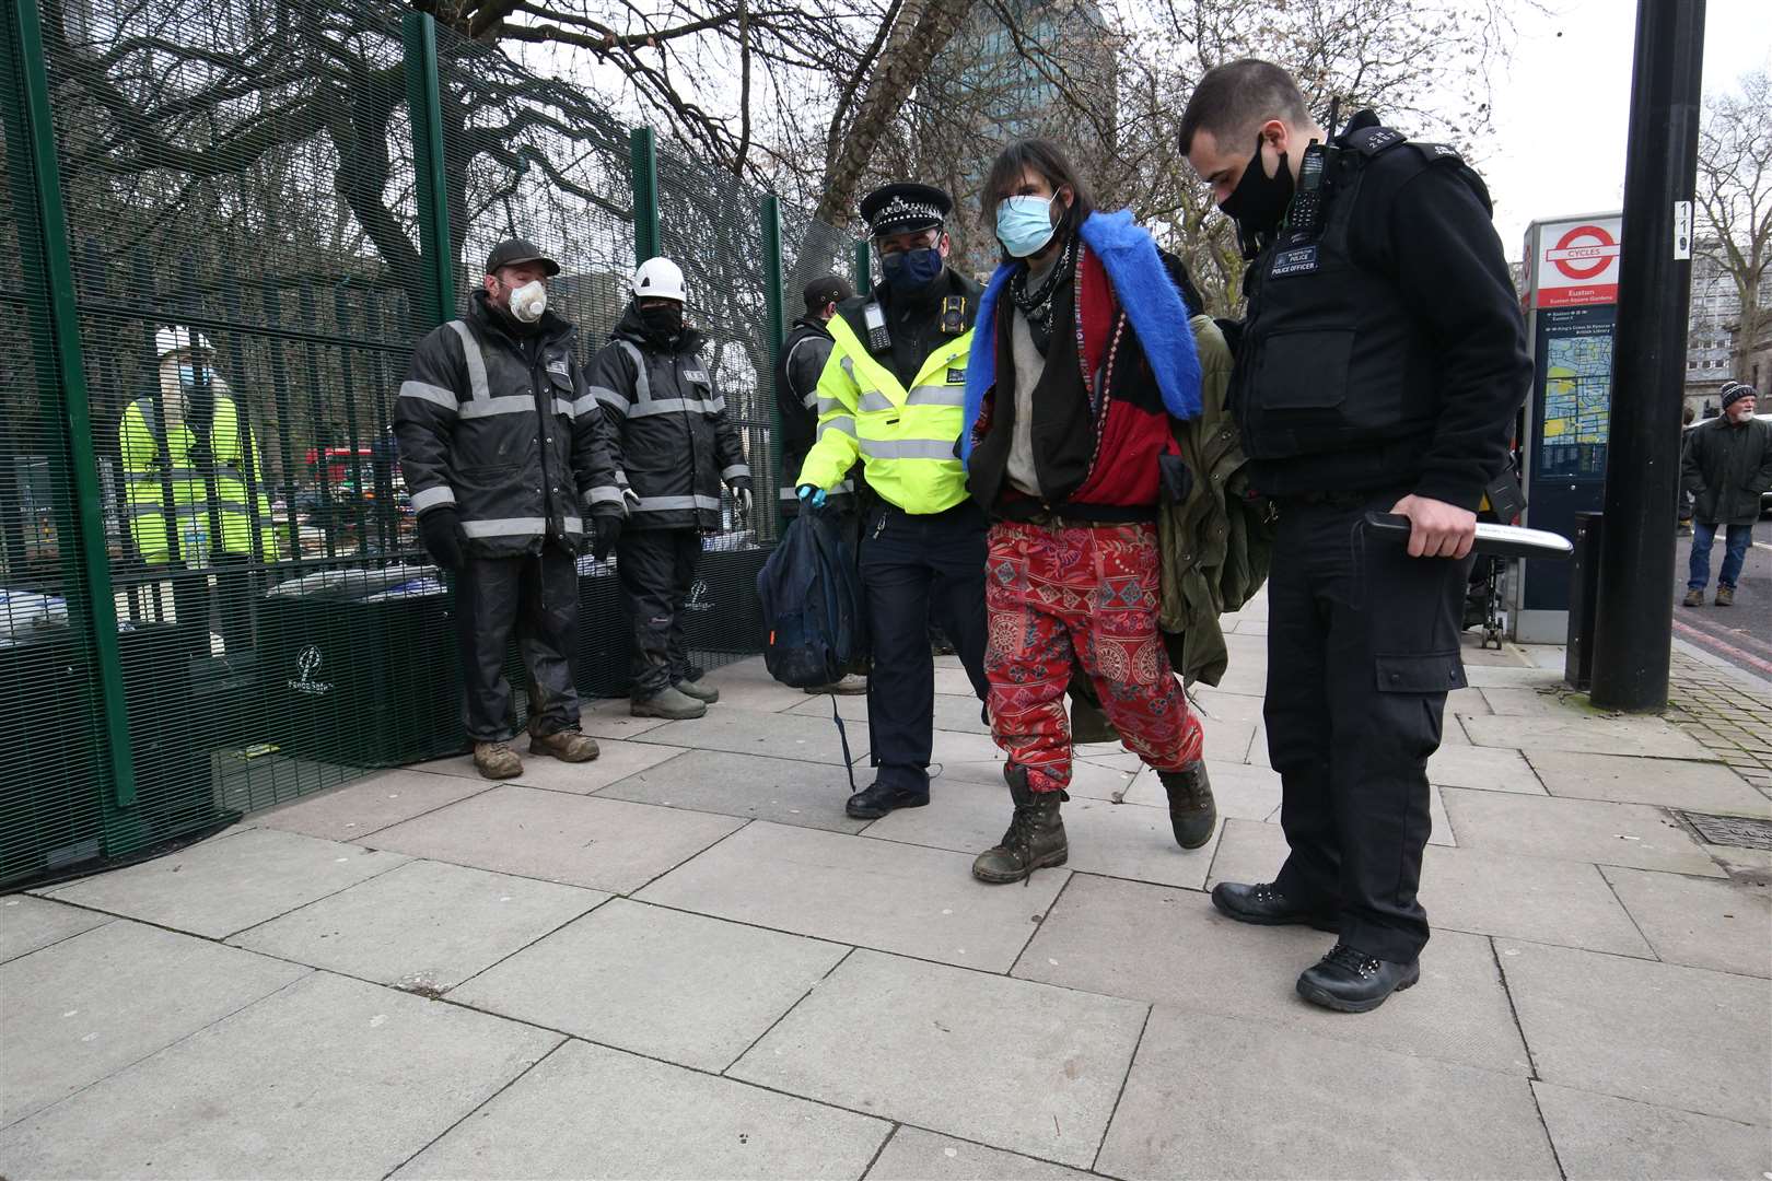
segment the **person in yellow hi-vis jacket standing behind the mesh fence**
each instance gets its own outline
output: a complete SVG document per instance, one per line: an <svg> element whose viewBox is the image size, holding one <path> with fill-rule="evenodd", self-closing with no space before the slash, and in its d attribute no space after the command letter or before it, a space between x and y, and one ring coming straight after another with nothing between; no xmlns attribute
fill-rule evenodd
<svg viewBox="0 0 1772 1181"><path fill-rule="evenodd" d="M191 652L209 655L209 579L229 653L252 646L250 563L276 561L260 448L214 349L188 328L154 333L158 391L124 407L117 427L129 540L172 579L174 613Z"/></svg>

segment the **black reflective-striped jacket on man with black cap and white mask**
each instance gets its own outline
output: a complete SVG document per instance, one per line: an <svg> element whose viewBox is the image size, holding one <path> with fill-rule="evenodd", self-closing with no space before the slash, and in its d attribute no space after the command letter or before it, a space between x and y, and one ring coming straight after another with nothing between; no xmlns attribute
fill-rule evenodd
<svg viewBox="0 0 1772 1181"><path fill-rule="evenodd" d="M420 515L461 513L471 554L576 547L587 513L622 513L608 428L574 343L572 324L551 312L535 335L516 335L475 292L466 317L413 351L393 411L400 473Z"/></svg>

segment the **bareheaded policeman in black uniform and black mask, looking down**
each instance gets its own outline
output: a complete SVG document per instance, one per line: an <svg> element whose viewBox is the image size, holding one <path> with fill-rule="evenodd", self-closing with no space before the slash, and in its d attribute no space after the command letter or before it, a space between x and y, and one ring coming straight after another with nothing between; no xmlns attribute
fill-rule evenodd
<svg viewBox="0 0 1772 1181"><path fill-rule="evenodd" d="M1207 71L1180 147L1253 257L1232 402L1281 505L1263 715L1290 855L1212 901L1340 931L1297 992L1363 1013L1421 972L1426 760L1465 683L1476 508L1531 381L1526 329L1488 193L1449 147L1372 112L1331 140L1258 60ZM1368 512L1409 517L1407 545Z"/></svg>

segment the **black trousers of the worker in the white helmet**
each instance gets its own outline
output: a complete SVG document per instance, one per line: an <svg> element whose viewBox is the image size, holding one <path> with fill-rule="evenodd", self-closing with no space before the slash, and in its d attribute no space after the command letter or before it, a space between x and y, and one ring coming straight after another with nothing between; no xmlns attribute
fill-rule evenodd
<svg viewBox="0 0 1772 1181"><path fill-rule="evenodd" d="M633 630L633 699L654 698L693 680L682 613L702 560L696 529L624 529L615 544L622 613Z"/></svg>

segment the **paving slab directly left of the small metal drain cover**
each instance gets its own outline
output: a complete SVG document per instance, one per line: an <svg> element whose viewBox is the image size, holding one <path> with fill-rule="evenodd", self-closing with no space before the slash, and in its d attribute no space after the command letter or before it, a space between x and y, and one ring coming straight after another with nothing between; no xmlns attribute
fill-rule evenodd
<svg viewBox="0 0 1772 1181"><path fill-rule="evenodd" d="M1460 848L1722 876L1666 813L1646 804L1566 800L1446 788Z"/></svg>

